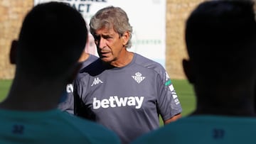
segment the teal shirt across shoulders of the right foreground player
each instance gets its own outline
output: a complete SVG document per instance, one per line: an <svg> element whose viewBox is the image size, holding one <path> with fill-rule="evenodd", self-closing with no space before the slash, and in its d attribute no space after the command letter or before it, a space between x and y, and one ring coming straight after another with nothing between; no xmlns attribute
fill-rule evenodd
<svg viewBox="0 0 256 144"><path fill-rule="evenodd" d="M256 133L255 123L255 118L207 115L186 116L140 136L132 144L164 143L169 140L172 143L211 143L215 138L215 134L225 135L223 143L228 141L238 142L248 138L250 133ZM234 131L234 129L244 133ZM184 135L186 135L186 138L183 138ZM198 141L198 139L201 141Z"/></svg>

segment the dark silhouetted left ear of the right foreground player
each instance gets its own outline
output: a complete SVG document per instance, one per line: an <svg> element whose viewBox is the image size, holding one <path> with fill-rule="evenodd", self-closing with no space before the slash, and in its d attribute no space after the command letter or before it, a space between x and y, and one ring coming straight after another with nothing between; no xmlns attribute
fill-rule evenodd
<svg viewBox="0 0 256 144"><path fill-rule="evenodd" d="M188 79L188 82L193 84L196 80L196 75L195 75L195 72L193 71L193 66L191 64L191 61L183 59L182 65L183 65L184 73L186 74L186 77Z"/></svg>

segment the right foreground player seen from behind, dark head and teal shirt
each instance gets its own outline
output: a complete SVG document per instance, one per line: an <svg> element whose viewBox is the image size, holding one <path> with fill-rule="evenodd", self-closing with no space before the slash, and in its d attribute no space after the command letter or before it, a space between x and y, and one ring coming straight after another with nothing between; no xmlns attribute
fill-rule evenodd
<svg viewBox="0 0 256 144"><path fill-rule="evenodd" d="M252 1L204 1L186 21L189 60L183 68L196 92L190 116L133 144L256 143L256 22Z"/></svg>

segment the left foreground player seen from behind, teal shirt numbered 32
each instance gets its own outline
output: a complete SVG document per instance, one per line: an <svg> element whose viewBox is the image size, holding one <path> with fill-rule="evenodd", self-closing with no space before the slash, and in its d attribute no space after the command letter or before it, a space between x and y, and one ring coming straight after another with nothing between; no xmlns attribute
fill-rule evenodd
<svg viewBox="0 0 256 144"><path fill-rule="evenodd" d="M16 73L0 104L0 143L119 143L103 126L57 109L80 70L85 24L78 11L57 2L39 4L26 15L11 47Z"/></svg>

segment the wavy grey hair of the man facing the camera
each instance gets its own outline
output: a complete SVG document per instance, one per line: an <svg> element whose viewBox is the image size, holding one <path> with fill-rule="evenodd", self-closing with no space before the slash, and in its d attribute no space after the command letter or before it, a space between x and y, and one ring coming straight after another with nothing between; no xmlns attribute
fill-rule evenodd
<svg viewBox="0 0 256 144"><path fill-rule="evenodd" d="M90 33L95 34L95 31L106 28L113 28L116 33L121 37L125 32L129 33L129 40L126 48L132 46L132 26L129 24L127 13L119 7L107 6L95 13L90 20Z"/></svg>

